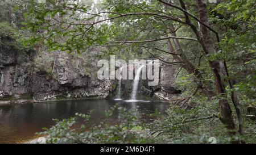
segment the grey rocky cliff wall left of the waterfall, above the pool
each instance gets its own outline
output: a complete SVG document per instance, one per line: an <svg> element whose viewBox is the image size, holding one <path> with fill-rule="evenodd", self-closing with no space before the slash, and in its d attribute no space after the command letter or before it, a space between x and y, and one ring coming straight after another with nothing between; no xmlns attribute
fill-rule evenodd
<svg viewBox="0 0 256 155"><path fill-rule="evenodd" d="M105 98L113 91L112 82L86 72L96 70L96 64L93 58L85 62L65 52L24 53L0 47L0 99Z"/></svg>

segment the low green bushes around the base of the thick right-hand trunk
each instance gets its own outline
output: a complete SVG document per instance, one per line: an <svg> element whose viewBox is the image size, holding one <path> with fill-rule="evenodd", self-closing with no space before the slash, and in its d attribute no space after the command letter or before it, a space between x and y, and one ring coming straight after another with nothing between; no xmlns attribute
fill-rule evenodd
<svg viewBox="0 0 256 155"><path fill-rule="evenodd" d="M231 143L238 138L246 143L255 142L255 119L243 116L245 134L228 136L218 120L217 107L218 99L195 96L187 103L187 108L171 106L166 116L148 126L151 131L157 131L154 140L160 143L210 143L210 137L216 138L217 143Z"/></svg>

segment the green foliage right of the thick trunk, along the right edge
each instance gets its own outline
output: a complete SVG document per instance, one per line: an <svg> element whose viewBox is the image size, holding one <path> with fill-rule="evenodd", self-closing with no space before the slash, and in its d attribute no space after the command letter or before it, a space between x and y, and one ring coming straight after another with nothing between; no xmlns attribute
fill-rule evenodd
<svg viewBox="0 0 256 155"><path fill-rule="evenodd" d="M211 60L228 63L233 91L244 107L255 105L255 0L223 1L214 6L211 22L222 35L220 50ZM230 91L230 90L229 90Z"/></svg>

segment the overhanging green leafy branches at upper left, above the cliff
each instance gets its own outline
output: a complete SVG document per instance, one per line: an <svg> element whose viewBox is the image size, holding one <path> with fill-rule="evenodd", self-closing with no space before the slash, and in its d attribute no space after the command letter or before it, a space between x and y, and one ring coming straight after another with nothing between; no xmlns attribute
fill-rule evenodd
<svg viewBox="0 0 256 155"><path fill-rule="evenodd" d="M85 52L91 45L106 43L108 37L112 35L112 26L101 24L101 27L96 28L94 25L89 26L82 22L93 20L91 17L82 15L90 5L92 4L75 5L65 1L60 3L32 1L25 15L26 23L23 23L27 30L34 32L34 36L28 40L28 43L44 42L50 51L77 53ZM72 7L73 11L67 7ZM81 12L77 14L75 10L81 10ZM77 24L76 22L79 21L82 23ZM37 33L39 30L45 33Z"/></svg>

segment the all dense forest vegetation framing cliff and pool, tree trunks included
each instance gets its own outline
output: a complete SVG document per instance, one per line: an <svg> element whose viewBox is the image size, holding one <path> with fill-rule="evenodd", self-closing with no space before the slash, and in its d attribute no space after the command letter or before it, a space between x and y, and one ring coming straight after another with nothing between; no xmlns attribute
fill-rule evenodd
<svg viewBox="0 0 256 155"><path fill-rule="evenodd" d="M180 70L175 85L183 94L154 123L138 125L133 110L119 109L118 125L102 123L88 132L84 126L71 130L76 122L71 118L43 133L48 143L209 143L209 137L218 143L255 143L255 4L2 1L0 44L24 50L45 45L77 55L100 47L99 57L158 58Z"/></svg>

